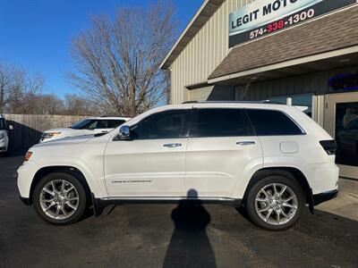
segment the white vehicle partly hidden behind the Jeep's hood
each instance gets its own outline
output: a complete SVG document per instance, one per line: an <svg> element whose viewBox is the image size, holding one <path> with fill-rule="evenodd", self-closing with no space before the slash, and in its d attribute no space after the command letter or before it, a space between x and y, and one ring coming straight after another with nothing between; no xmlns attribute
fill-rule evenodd
<svg viewBox="0 0 358 268"><path fill-rule="evenodd" d="M88 118L74 123L71 127L65 129L46 130L39 142L52 141L59 138L75 137L81 135L92 135L98 133L107 133L110 130L122 125L128 121L128 117L95 117Z"/></svg>

